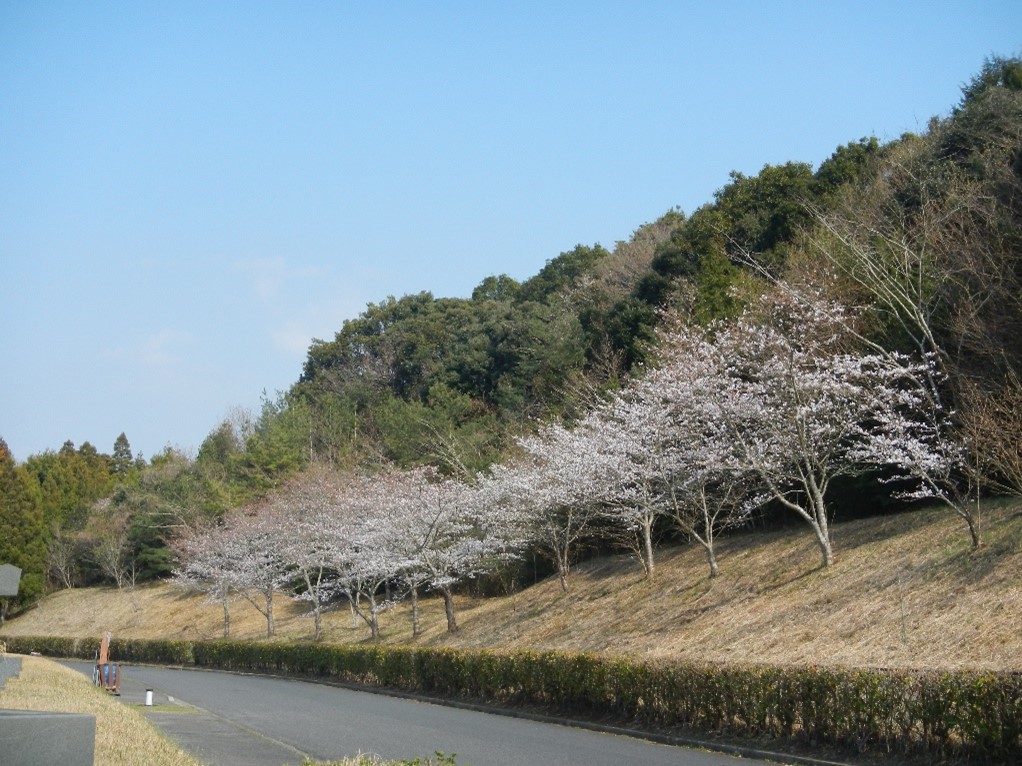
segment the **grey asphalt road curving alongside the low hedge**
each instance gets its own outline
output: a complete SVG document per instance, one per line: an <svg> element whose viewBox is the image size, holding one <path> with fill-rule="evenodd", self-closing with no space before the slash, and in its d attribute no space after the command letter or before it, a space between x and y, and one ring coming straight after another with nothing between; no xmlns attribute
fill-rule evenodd
<svg viewBox="0 0 1022 766"><path fill-rule="evenodd" d="M89 663L66 663L91 677ZM747 758L309 681L124 666L122 701L210 766L300 765L360 753L457 754L459 766L750 766Z"/></svg>

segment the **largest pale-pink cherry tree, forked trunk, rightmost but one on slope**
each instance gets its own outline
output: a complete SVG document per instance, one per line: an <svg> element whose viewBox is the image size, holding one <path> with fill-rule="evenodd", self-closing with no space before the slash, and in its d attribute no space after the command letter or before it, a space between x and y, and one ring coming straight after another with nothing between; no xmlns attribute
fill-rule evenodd
<svg viewBox="0 0 1022 766"><path fill-rule="evenodd" d="M920 419L929 368L856 352L846 324L835 304L764 296L758 316L714 326L705 346L719 361L705 403L730 446L721 467L754 474L765 496L805 520L824 566L835 478L880 465L918 478L915 467L946 462Z"/></svg>

